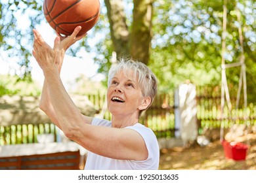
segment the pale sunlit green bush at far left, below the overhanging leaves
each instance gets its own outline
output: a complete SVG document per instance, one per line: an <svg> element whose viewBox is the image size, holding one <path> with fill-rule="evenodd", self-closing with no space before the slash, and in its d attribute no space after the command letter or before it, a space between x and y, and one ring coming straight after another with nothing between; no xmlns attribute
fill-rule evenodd
<svg viewBox="0 0 256 183"><path fill-rule="evenodd" d="M0 96L39 96L41 88L32 80L20 80L19 76L0 75Z"/></svg>

